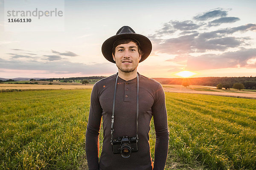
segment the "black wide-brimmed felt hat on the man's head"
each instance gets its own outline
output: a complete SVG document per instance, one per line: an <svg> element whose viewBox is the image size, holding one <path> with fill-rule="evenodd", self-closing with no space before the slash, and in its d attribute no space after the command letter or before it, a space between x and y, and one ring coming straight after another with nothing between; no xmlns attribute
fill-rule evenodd
<svg viewBox="0 0 256 170"><path fill-rule="evenodd" d="M140 35L140 34L136 34L133 29L131 29L131 27L129 26L123 26L122 28L120 28L116 35L114 35L113 37L108 38L108 40L106 40L105 42L103 42L102 44L102 54L103 56L108 59L108 61L116 63L113 60L112 57L112 48L113 48L113 44L114 42L116 42L116 40L120 39L120 38L133 38L135 40L137 40L140 43L140 49L141 51L143 51L143 54L141 56L140 62L144 61L149 54L151 53L152 50L152 44L151 41L145 37L144 35Z"/></svg>

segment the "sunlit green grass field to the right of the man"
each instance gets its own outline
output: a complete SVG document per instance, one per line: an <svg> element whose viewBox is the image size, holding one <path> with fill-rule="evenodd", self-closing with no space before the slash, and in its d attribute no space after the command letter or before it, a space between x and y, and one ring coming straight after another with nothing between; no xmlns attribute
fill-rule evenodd
<svg viewBox="0 0 256 170"><path fill-rule="evenodd" d="M212 170L256 168L256 101L166 93L169 161ZM171 162L170 162L171 163Z"/></svg>

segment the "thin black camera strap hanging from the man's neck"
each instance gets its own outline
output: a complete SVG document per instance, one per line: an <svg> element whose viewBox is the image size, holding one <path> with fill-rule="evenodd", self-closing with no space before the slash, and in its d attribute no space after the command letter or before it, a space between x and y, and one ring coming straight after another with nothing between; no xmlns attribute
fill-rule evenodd
<svg viewBox="0 0 256 170"><path fill-rule="evenodd" d="M116 76L116 84L114 90L114 98L113 98L113 108L112 108L112 117L111 117L111 144L113 140L113 125L114 125L114 116L115 116L115 102L116 102L116 86L117 86L118 74ZM136 137L138 138L138 117L139 117L139 76L137 74L137 110L136 110Z"/></svg>

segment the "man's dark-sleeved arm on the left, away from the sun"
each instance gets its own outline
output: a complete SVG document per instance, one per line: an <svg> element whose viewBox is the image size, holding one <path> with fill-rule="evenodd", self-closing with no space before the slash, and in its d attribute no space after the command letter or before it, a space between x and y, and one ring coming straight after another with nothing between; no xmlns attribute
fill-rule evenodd
<svg viewBox="0 0 256 170"><path fill-rule="evenodd" d="M89 119L86 130L86 157L89 170L99 170L99 130L102 119L102 108L99 103L98 88L93 86L90 100Z"/></svg>

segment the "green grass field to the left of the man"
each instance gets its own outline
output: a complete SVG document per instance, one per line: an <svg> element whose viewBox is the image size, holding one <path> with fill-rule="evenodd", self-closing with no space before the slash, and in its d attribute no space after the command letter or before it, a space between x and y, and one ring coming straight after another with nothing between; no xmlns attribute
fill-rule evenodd
<svg viewBox="0 0 256 170"><path fill-rule="evenodd" d="M0 95L0 169L79 169L90 91Z"/></svg>

